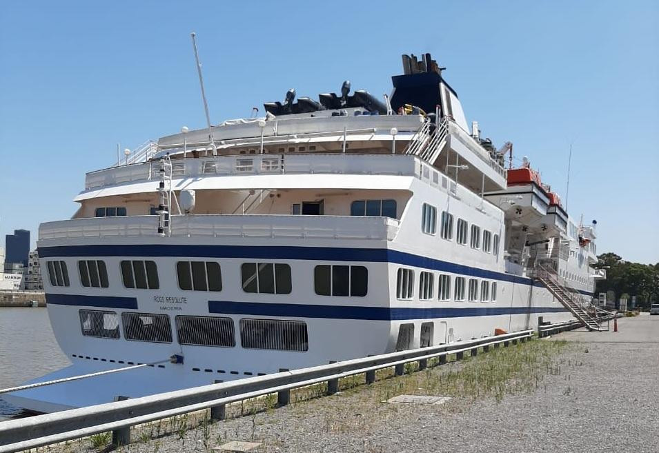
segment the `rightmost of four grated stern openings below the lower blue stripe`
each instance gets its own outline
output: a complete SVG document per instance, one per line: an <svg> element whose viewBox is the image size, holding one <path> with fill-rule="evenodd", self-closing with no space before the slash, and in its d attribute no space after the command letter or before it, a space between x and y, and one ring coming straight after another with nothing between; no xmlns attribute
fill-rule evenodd
<svg viewBox="0 0 659 453"><path fill-rule="evenodd" d="M275 319L241 319L240 343L245 349L308 351L306 323Z"/></svg>

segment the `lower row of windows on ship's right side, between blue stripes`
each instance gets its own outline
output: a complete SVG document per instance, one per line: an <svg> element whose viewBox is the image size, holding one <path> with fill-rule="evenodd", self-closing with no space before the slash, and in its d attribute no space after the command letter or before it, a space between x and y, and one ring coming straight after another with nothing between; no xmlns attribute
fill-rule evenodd
<svg viewBox="0 0 659 453"><path fill-rule="evenodd" d="M435 292L435 274L422 271L419 278L419 300L439 301L451 300L451 276L440 274L437 279L437 292ZM466 285L466 277L456 276L453 278L455 290L453 299L469 302L494 302L497 300L497 282L480 279L469 279ZM465 292L466 289L466 292ZM396 281L396 296L398 299L412 299L414 294L414 271L412 269L399 268Z"/></svg>

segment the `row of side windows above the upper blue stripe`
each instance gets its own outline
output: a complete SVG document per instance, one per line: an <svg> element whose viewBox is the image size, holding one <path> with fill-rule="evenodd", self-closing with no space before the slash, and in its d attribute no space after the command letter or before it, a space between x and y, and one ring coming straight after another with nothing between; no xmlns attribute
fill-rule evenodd
<svg viewBox="0 0 659 453"><path fill-rule="evenodd" d="M446 241L453 241L453 214L442 211L440 221L440 236ZM466 245L471 237L471 248L482 250L485 253L499 254L499 235L483 230L478 225L471 225L469 234L469 223L464 219L458 219L455 226L455 240L460 245ZM421 208L421 231L426 234L435 235L437 231L437 208L428 203L423 203Z"/></svg>

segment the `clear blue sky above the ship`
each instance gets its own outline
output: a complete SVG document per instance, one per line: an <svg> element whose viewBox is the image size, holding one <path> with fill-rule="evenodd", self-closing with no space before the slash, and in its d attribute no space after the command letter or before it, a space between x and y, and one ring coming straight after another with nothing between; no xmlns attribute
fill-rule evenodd
<svg viewBox="0 0 659 453"><path fill-rule="evenodd" d="M5 1L0 13L0 234L66 219L117 142L204 126L253 105L391 90L400 54L431 52L467 120L511 140L598 252L659 261L657 1ZM3 241L1 241L3 243ZM34 242L34 241L33 241Z"/></svg>

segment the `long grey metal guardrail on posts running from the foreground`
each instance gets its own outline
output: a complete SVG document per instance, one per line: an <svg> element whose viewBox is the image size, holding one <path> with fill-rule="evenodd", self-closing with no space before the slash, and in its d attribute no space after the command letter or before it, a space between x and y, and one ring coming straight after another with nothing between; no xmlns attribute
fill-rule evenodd
<svg viewBox="0 0 659 453"><path fill-rule="evenodd" d="M435 357L441 365L446 363L449 354L456 354L456 359L460 360L464 352L474 356L480 348L486 352L490 346L506 347L527 341L532 335L533 330L523 330L3 421L0 422L0 453L19 452L107 431L112 431L115 443L128 443L133 425L209 407L211 418L224 419L224 408L229 403L277 393L279 405L286 405L291 389L326 382L327 394L334 394L338 390L338 380L344 377L365 374L365 383L369 384L375 381L376 370L395 367L395 374L400 376L406 363L419 362L422 370L428 366L428 360Z"/></svg>

